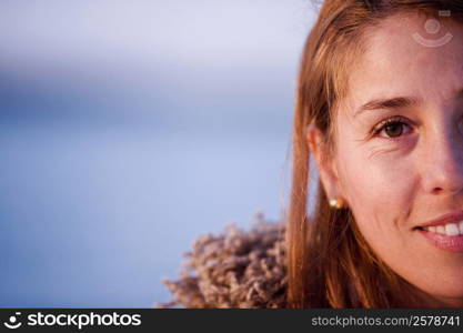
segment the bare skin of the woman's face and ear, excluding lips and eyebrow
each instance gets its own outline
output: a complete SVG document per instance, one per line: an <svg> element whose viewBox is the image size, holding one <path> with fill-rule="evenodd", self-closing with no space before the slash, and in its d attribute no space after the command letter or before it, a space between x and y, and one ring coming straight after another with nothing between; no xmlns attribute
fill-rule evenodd
<svg viewBox="0 0 463 333"><path fill-rule="evenodd" d="M426 20L397 14L369 33L335 112L334 155L324 162L316 129L308 140L329 198L344 199L373 251L416 289L421 305L463 307L463 252L437 249L415 229L463 210L463 26L441 21L442 33L431 36ZM453 39L429 48L413 32ZM373 99L395 97L420 103L356 114ZM393 138L385 129L372 133L397 115Z"/></svg>

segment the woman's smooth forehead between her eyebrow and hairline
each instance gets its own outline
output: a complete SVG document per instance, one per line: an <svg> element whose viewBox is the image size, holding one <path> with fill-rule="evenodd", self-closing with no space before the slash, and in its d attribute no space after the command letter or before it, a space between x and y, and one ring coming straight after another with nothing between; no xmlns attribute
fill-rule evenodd
<svg viewBox="0 0 463 333"><path fill-rule="evenodd" d="M349 78L346 102L352 108L373 98L450 98L463 87L463 26L430 19L417 13L397 14L368 32L366 51ZM435 31L430 30L433 27L439 32L430 33ZM446 42L429 47L416 36Z"/></svg>

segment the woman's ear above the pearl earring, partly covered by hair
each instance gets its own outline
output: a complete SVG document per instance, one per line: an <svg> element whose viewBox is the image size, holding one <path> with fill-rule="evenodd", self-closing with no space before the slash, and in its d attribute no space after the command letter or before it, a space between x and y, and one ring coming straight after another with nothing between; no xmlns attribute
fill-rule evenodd
<svg viewBox="0 0 463 333"><path fill-rule="evenodd" d="M323 133L316 127L310 125L306 135L328 199L341 198L338 168L326 147Z"/></svg>

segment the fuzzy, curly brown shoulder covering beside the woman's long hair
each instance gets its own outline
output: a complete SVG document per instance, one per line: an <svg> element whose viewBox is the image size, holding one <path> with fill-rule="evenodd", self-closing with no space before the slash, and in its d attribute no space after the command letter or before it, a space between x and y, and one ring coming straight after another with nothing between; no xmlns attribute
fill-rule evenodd
<svg viewBox="0 0 463 333"><path fill-rule="evenodd" d="M262 214L249 231L228 226L199 238L180 278L164 281L173 300L163 307L285 307L284 225Z"/></svg>

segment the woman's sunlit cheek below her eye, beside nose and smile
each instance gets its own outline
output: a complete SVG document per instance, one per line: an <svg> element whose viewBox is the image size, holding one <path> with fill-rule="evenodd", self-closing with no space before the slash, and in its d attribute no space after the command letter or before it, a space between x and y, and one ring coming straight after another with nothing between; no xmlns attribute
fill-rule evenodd
<svg viewBox="0 0 463 333"><path fill-rule="evenodd" d="M415 189L411 163L351 153L343 155L340 167L342 191L365 239L380 248L400 241L397 232L409 228Z"/></svg>

